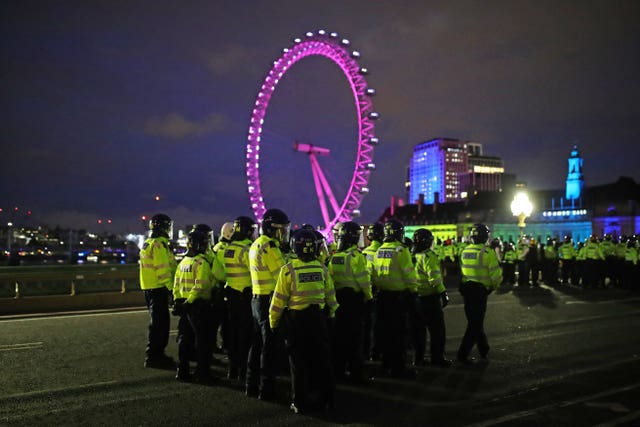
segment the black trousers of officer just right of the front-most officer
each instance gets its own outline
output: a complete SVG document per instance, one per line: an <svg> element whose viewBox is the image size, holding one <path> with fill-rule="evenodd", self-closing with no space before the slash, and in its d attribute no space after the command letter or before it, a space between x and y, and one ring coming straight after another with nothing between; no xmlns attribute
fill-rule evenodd
<svg viewBox="0 0 640 427"><path fill-rule="evenodd" d="M348 370L352 380L362 380L364 294L352 288L341 288L336 290L336 299L340 305L336 311L332 345L336 377L344 377Z"/></svg>

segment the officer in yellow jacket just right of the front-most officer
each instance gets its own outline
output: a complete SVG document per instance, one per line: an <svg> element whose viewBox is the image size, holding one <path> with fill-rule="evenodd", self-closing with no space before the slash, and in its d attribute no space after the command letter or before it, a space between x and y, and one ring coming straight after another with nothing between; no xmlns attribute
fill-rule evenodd
<svg viewBox="0 0 640 427"><path fill-rule="evenodd" d="M362 337L365 302L373 298L365 256L358 250L362 230L356 222L342 224L338 246L329 261L340 310L336 314L333 362L336 378L359 383L364 380Z"/></svg>

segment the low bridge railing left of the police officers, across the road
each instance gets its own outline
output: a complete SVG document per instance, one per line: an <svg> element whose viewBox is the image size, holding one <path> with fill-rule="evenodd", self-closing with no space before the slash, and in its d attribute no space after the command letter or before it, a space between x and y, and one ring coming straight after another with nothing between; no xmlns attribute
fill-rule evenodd
<svg viewBox="0 0 640 427"><path fill-rule="evenodd" d="M0 298L139 291L137 264L0 268Z"/></svg>

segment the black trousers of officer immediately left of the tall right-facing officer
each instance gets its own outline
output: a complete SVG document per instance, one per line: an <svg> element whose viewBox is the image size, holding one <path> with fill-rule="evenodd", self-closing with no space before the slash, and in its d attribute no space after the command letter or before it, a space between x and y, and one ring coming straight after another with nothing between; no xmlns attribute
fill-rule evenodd
<svg viewBox="0 0 640 427"><path fill-rule="evenodd" d="M226 346L229 356L229 377L244 378L253 332L251 286L246 287L242 292L226 287L224 292L227 299Z"/></svg>

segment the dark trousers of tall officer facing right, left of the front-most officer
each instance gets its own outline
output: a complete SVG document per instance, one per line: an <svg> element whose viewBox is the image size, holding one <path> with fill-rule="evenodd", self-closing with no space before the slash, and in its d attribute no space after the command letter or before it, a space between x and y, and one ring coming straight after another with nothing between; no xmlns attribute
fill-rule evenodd
<svg viewBox="0 0 640 427"><path fill-rule="evenodd" d="M249 394L258 392L264 397L275 394L276 382L276 335L269 326L272 295L253 295L251 298L253 333L247 360L246 391Z"/></svg>

